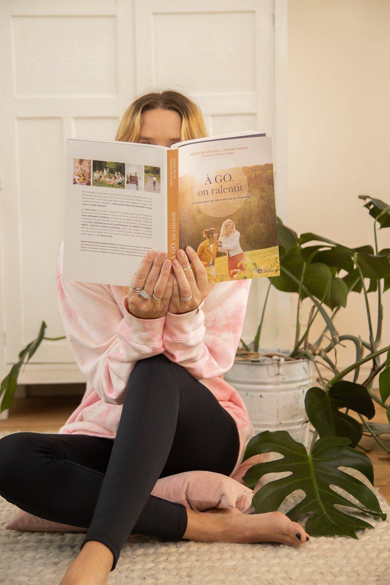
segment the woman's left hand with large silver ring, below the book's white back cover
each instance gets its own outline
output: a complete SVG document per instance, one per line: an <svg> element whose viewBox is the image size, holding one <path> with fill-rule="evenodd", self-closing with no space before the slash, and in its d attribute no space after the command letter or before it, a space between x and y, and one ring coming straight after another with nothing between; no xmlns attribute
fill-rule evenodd
<svg viewBox="0 0 390 585"><path fill-rule="evenodd" d="M151 256L150 252L153 252L154 256ZM140 319L163 317L168 310L172 295L171 260L165 260L167 256L165 252L158 254L156 250L150 250L150 252L145 254L132 282L134 286L143 288L149 294L149 298L141 297L132 288L129 288L127 293L129 312ZM161 300L157 301L153 293Z"/></svg>

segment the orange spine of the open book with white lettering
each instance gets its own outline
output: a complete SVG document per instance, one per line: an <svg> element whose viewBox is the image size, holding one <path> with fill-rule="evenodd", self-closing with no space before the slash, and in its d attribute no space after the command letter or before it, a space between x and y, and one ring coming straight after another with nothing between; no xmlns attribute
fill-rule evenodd
<svg viewBox="0 0 390 585"><path fill-rule="evenodd" d="M173 260L179 249L179 177L178 149L167 151L167 206L168 206L168 258Z"/></svg>

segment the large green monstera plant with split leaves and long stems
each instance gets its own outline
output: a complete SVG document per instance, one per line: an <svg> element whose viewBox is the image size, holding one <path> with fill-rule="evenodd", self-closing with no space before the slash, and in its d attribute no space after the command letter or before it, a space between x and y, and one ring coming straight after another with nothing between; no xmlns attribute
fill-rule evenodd
<svg viewBox="0 0 390 585"><path fill-rule="evenodd" d="M357 477L339 469L356 469L374 484L371 460L357 449L360 447L367 450L359 445L363 431L369 433L390 454L379 438L381 434L390 432L390 425L368 422L375 415L374 402L386 408L390 421L390 407L385 404L390 396L390 346L381 347L384 318L382 295L390 288L390 249L379 250L377 239L378 229L390 227L390 205L367 195L359 197L365 201L364 207L374 219L374 247L351 248L314 233L303 233L298 237L278 219L281 274L279 277L271 277L269 286L274 285L278 290L298 294L295 344L289 357L309 357L316 367L318 386L310 388L305 395L306 414L315 432L309 452L287 431L264 431L250 440L244 453L244 460L266 452L283 456L250 467L243 477L247 487L254 488L267 473L291 472L288 476L269 481L256 491L253 497L254 510L257 513L278 510L289 494L303 490L305 497L287 512L287 516L299 521L302 516L311 514L305 529L313 536L349 535L357 538L357 529L372 528L363 519L335 508L335 504L356 508L382 520L386 518L374 492ZM346 307L348 296L354 292L362 295L368 339L352 333L340 335L334 325L334 316L342 307ZM370 293L378 297L375 328L368 302ZM265 303L267 298L268 294ZM304 298L310 299L312 308L308 325L301 335L299 310ZM329 314L325 307L332 313ZM264 311L265 307L254 339L254 351L249 352L250 355L258 352ZM317 315L322 317L324 328L319 338L310 342L310 328ZM329 339L323 346L327 333ZM354 344L356 361L339 371L336 351L346 341ZM241 355L249 351L243 345ZM364 356L367 350L369 353ZM384 357L382 363L381 356ZM357 383L360 367L366 362L371 362L370 374L362 383ZM320 373L320 364L332 372L332 377L326 378ZM345 380L351 372L354 374L353 380ZM377 376L379 394L372 388ZM348 415L349 410L356 412L360 421ZM332 485L351 494L361 505L334 491L330 487Z"/></svg>

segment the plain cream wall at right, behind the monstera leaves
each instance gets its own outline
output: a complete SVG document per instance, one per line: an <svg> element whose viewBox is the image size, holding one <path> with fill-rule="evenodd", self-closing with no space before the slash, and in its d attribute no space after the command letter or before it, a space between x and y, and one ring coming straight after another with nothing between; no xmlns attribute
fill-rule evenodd
<svg viewBox="0 0 390 585"><path fill-rule="evenodd" d="M372 218L357 195L390 204L389 61L388 0L289 0L289 225L298 233L374 246ZM390 247L390 229L379 230L378 240L379 249ZM375 293L370 303L376 316ZM390 290L382 304L385 346ZM350 295L336 326L368 338L363 295ZM354 360L350 343L338 360L340 369Z"/></svg>

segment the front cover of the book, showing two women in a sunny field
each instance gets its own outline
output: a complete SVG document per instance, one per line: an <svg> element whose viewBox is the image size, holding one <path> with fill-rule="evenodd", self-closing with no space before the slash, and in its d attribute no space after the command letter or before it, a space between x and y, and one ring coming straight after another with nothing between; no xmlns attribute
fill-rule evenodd
<svg viewBox="0 0 390 585"><path fill-rule="evenodd" d="M271 137L178 148L179 247L192 246L210 282L279 276Z"/></svg>

